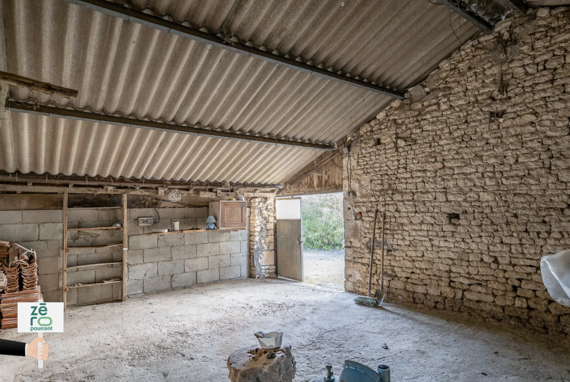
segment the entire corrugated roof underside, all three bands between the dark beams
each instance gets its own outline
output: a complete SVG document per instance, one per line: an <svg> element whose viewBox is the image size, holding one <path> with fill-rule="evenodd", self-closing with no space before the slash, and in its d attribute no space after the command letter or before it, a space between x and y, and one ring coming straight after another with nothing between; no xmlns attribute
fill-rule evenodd
<svg viewBox="0 0 570 382"><path fill-rule="evenodd" d="M131 5L399 91L478 32L428 0ZM60 0L2 6L8 71L78 89L73 108L332 143L392 100ZM10 94L67 102L14 86ZM0 170L9 172L279 183L322 153L9 114L0 128Z"/></svg>

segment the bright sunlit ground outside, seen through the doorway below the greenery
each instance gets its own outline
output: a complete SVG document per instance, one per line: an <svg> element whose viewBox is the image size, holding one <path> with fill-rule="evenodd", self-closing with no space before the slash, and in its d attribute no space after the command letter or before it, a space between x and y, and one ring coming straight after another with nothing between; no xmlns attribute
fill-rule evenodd
<svg viewBox="0 0 570 382"><path fill-rule="evenodd" d="M303 281L344 290L344 249L303 248Z"/></svg>

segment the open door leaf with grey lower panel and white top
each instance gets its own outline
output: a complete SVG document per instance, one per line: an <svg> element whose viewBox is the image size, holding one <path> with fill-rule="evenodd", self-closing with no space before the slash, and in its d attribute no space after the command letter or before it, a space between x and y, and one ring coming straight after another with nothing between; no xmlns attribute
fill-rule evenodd
<svg viewBox="0 0 570 382"><path fill-rule="evenodd" d="M303 281L301 198L277 199L277 276Z"/></svg>

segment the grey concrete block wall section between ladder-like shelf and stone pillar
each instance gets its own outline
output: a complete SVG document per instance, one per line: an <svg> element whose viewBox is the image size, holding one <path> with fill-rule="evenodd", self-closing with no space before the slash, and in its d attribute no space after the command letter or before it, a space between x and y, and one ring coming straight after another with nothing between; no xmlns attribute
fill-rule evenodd
<svg viewBox="0 0 570 382"><path fill-rule="evenodd" d="M165 215L163 210L159 224L165 228L172 219L181 221L181 227L182 221L187 227L205 225L207 208L189 208L184 216L182 211L174 210L185 208L172 208ZM136 225L138 217L156 216L152 208L133 208L130 214L132 225ZM129 228L129 295L247 277L246 230L145 235L143 232L149 228L153 227L133 227L133 231ZM132 232L137 234L131 235Z"/></svg>

